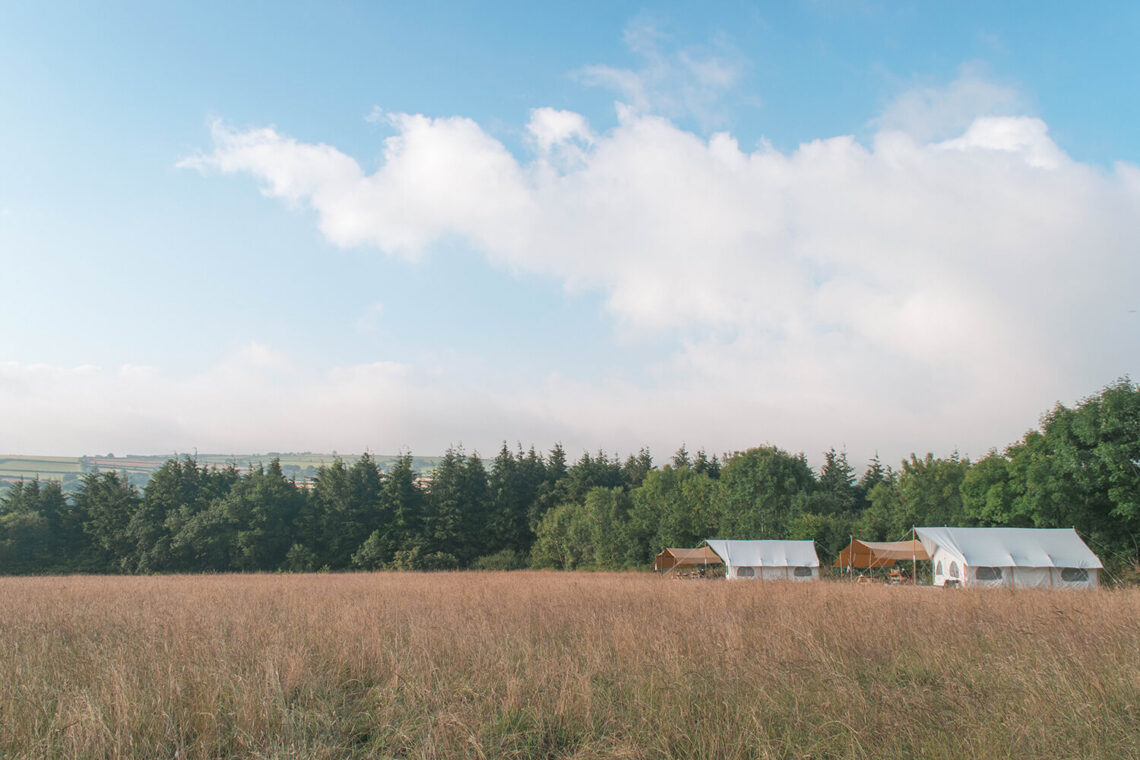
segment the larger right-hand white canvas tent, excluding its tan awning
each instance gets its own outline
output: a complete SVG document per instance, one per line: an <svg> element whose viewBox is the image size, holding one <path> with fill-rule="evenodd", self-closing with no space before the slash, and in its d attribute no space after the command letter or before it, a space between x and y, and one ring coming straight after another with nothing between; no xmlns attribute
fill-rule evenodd
<svg viewBox="0 0 1140 760"><path fill-rule="evenodd" d="M1104 565L1072 528L915 528L935 586L1094 588Z"/></svg>

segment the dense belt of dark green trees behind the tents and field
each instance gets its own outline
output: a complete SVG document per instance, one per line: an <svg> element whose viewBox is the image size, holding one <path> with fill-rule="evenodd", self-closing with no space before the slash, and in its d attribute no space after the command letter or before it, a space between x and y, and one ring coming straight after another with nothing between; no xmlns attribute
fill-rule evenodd
<svg viewBox="0 0 1140 760"><path fill-rule="evenodd" d="M1122 379L978 461L878 458L862 477L834 449L815 473L765 446L723 457L682 447L572 465L555 446L503 446L488 469L449 450L429 479L405 455L365 455L299 483L279 463L239 472L168 460L139 491L90 473L76 493L16 483L0 498L0 572L445 570L648 565L705 538L814 539L821 558L850 536L914 525L1074 526L1109 566L1140 555L1140 387Z"/></svg>

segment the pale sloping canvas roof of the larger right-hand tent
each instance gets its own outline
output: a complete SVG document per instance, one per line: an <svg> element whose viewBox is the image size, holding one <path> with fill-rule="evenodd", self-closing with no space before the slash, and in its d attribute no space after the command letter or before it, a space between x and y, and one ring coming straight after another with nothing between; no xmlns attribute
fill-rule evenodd
<svg viewBox="0 0 1140 760"><path fill-rule="evenodd" d="M928 554L942 547L983 567L1100 569L1100 559L1072 528L915 528Z"/></svg>

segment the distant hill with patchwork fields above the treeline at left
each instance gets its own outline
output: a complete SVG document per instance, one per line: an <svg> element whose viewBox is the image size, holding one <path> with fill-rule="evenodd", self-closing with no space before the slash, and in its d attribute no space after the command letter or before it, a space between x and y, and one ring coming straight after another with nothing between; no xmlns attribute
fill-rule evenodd
<svg viewBox="0 0 1140 760"><path fill-rule="evenodd" d="M154 471L176 456L181 457L182 455L128 455L121 457L114 455L96 457L0 455L0 490L5 490L8 484L22 479L27 481L38 477L41 481L60 481L65 491L73 491L87 473L107 471L127 473L131 483L142 488L150 480ZM195 456L199 466L226 467L234 465L238 469L268 465L274 459L279 459L286 477L295 477L299 481L315 477L321 466L331 465L337 456L349 465L359 459L359 455L314 453L311 451L301 453L278 453L276 451L269 453L198 453L192 456ZM398 457L396 455L374 455L373 458L381 469L388 469ZM413 457L412 466L417 473L427 473L435 467L440 459L441 457Z"/></svg>

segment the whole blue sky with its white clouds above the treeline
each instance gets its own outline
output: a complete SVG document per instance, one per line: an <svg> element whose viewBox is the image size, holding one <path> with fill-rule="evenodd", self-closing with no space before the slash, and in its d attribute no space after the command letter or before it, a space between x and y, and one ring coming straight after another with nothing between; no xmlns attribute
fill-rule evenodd
<svg viewBox="0 0 1140 760"><path fill-rule="evenodd" d="M984 456L1140 374L1138 33L0 0L0 452Z"/></svg>

